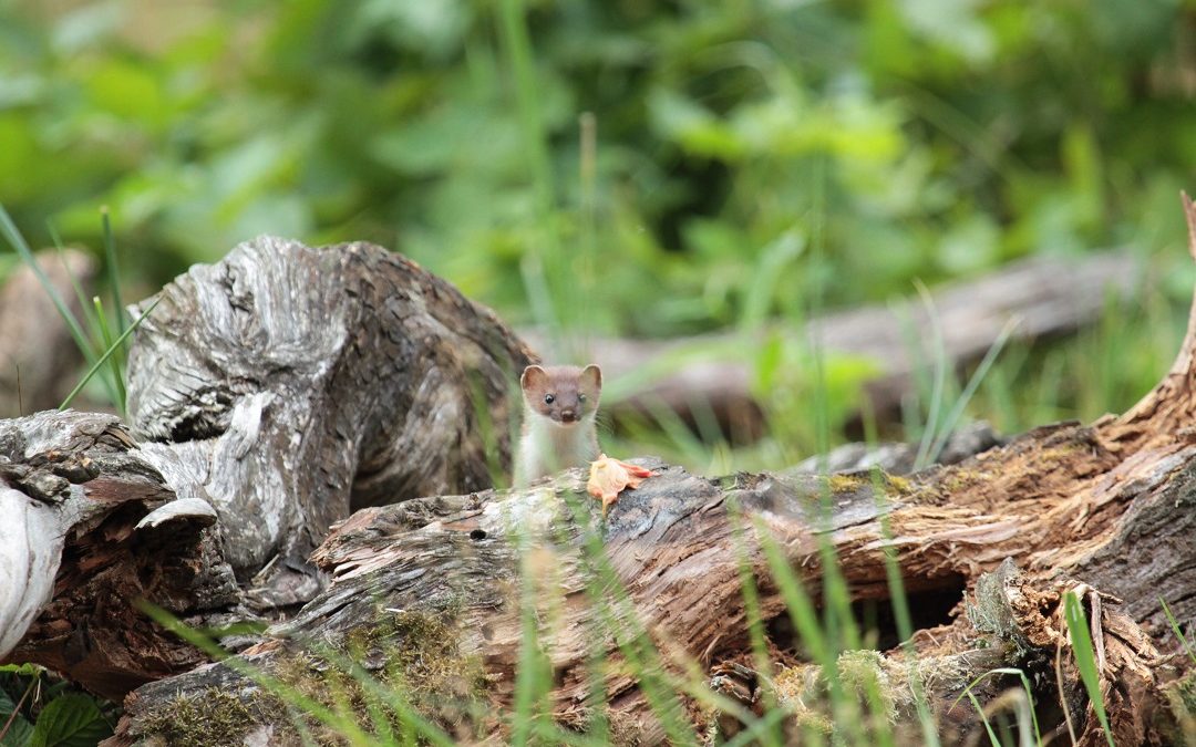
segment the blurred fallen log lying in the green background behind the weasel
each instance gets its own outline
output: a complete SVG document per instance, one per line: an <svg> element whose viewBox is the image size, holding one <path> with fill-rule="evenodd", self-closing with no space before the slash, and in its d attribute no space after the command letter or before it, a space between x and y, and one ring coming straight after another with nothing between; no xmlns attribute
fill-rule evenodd
<svg viewBox="0 0 1196 747"><path fill-rule="evenodd" d="M980 360L1011 320L1017 320L1013 339L1021 341L1080 329L1099 319L1109 294L1131 298L1140 275L1133 252L1116 250L1084 258L1025 259L936 290L930 294L930 308L942 332L942 355L956 368ZM582 344L580 355L600 363L608 381L623 376L640 381L645 372L657 372L631 386L629 397L610 402L609 415L651 414L664 406L692 418L708 408L732 437L750 440L763 425L743 351L773 336L806 347L816 342L829 356L874 362L877 373L866 391L875 412L897 409L913 390L919 367L927 369L939 355L932 316L916 296L832 313L804 330L779 327L749 339L725 333L666 342L594 338ZM556 351L547 335L526 331L524 337L545 360L566 360L566 351Z"/></svg>

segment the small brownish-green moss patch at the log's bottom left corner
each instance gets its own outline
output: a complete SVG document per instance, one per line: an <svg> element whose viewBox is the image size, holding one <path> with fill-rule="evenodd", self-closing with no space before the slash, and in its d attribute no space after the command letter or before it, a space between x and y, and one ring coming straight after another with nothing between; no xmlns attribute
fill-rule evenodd
<svg viewBox="0 0 1196 747"><path fill-rule="evenodd" d="M270 723L264 717L270 712L282 712L282 704L269 694L255 692L243 698L208 687L150 709L136 720L136 728L147 739L171 747L237 746L251 729Z"/></svg>

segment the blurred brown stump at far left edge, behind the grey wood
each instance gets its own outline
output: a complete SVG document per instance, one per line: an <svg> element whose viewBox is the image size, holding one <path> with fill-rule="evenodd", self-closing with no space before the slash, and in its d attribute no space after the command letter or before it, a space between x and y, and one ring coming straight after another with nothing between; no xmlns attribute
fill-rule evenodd
<svg viewBox="0 0 1196 747"><path fill-rule="evenodd" d="M36 258L62 301L83 318L71 278L86 293L96 262L73 249L61 257L42 251ZM59 406L78 380L80 361L83 354L49 293L26 265L16 268L0 287L0 417Z"/></svg>

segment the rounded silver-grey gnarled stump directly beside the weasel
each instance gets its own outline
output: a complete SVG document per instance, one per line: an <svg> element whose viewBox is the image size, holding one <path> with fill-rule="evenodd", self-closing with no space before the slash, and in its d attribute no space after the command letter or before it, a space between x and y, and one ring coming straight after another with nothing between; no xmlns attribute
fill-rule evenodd
<svg viewBox="0 0 1196 747"><path fill-rule="evenodd" d="M315 595L306 557L352 508L507 469L531 354L414 262L263 237L160 296L129 354L133 433L170 484L202 485L258 608Z"/></svg>

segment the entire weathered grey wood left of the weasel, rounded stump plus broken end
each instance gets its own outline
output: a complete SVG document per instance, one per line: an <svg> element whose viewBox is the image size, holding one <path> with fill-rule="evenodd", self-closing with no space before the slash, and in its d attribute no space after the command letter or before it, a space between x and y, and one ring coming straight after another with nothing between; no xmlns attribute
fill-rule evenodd
<svg viewBox="0 0 1196 747"><path fill-rule="evenodd" d="M530 361L488 310L367 244L263 238L160 295L129 355L130 429L0 421L0 656L117 699L202 659L136 600L196 625L276 618L323 587L307 556L352 507L489 486Z"/></svg>

